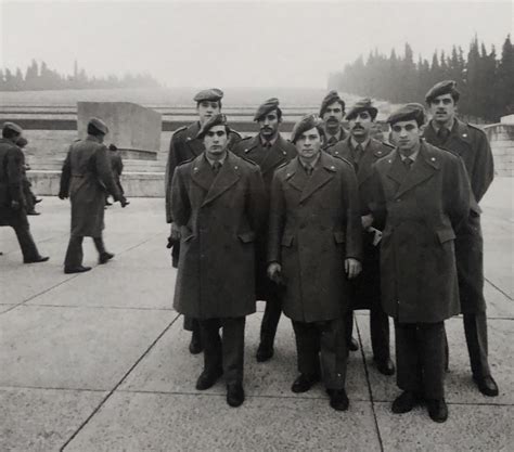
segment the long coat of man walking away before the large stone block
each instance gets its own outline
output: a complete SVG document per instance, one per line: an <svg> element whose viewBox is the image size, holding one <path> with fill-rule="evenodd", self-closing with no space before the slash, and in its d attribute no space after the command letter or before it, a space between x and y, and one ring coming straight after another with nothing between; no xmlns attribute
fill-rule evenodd
<svg viewBox="0 0 514 452"><path fill-rule="evenodd" d="M107 147L88 135L69 146L61 173L61 196L72 202L72 235L99 237L104 229L105 196L120 193L111 170Z"/></svg>

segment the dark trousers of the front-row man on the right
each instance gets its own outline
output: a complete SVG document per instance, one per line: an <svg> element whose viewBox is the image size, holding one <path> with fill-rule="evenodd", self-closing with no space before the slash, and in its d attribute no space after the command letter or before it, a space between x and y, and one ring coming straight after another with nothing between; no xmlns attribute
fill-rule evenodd
<svg viewBox="0 0 514 452"><path fill-rule="evenodd" d="M395 320L398 387L426 399L445 398L445 322Z"/></svg>

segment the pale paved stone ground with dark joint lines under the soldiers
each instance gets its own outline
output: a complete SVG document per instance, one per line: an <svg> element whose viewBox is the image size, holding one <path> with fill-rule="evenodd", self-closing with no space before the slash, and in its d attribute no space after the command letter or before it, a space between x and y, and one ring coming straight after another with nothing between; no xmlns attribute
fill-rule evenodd
<svg viewBox="0 0 514 452"><path fill-rule="evenodd" d="M69 207L44 198L31 217L50 262L24 266L14 233L0 229L0 451L348 450L512 451L514 404L513 179L497 179L483 203L490 362L500 396L474 387L461 319L447 322L450 417L424 409L390 413L395 377L371 361L365 312L356 315L360 350L350 356L350 409L333 411L321 386L294 395L295 347L280 324L272 361L257 364L262 306L247 320L246 402L231 409L224 385L194 389L202 358L171 309L176 272L165 243L162 199L107 211L116 258L65 275Z"/></svg>

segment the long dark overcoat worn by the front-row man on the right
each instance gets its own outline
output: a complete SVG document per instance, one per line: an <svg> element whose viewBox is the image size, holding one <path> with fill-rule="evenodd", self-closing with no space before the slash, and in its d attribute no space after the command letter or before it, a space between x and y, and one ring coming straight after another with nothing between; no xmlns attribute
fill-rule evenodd
<svg viewBox="0 0 514 452"><path fill-rule="evenodd" d="M372 208L385 222L382 304L401 323L440 322L460 311L454 230L470 210L462 162L422 143L408 171L397 150L374 165Z"/></svg>

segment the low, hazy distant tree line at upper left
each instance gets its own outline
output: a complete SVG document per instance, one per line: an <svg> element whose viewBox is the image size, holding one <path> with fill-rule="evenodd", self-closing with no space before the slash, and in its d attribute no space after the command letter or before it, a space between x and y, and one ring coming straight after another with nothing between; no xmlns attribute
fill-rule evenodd
<svg viewBox="0 0 514 452"><path fill-rule="evenodd" d="M123 77L108 75L90 77L75 62L74 74L60 74L48 67L47 63L38 65L33 60L25 70L20 67L12 72L0 69L0 91L41 91L66 89L105 89L105 88L157 88L160 83L149 74L126 74Z"/></svg>

